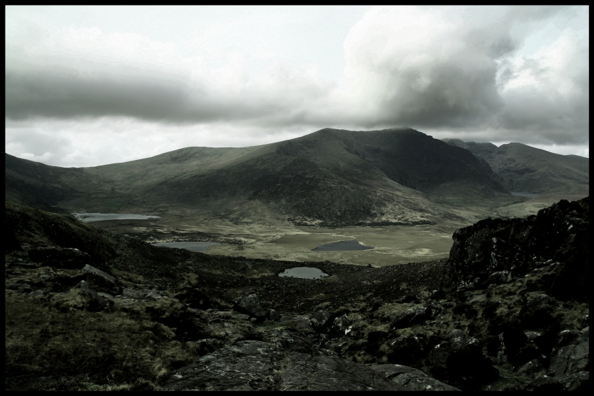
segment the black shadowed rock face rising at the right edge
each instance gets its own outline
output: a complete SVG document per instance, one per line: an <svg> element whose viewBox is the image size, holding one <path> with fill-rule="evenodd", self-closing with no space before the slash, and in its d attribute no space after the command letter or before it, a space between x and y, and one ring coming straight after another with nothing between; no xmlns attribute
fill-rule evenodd
<svg viewBox="0 0 594 396"><path fill-rule="evenodd" d="M549 291L558 298L585 298L588 279L589 198L561 200L526 219L486 219L454 233L443 288L497 284L493 274L519 277L553 262L563 266ZM500 283L500 282L499 282Z"/></svg>

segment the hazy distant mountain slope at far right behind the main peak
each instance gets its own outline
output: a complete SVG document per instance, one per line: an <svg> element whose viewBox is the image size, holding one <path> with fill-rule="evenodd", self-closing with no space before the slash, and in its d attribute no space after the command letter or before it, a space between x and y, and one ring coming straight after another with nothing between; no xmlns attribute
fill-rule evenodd
<svg viewBox="0 0 594 396"><path fill-rule="evenodd" d="M458 139L444 141L468 149L478 158L484 159L509 191L589 194L588 158L554 154L521 143L497 147L492 143L463 142Z"/></svg>

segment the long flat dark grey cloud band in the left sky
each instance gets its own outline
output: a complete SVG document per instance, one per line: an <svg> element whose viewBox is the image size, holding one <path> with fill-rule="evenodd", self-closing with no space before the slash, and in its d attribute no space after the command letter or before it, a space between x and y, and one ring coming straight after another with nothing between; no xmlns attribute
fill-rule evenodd
<svg viewBox="0 0 594 396"><path fill-rule="evenodd" d="M6 71L6 117L76 118L128 116L173 123L276 118L294 122L303 110L298 105L319 88L306 84L276 91L244 89L238 94L219 90L216 84L196 82L183 75L163 79L158 73L110 70L96 78L80 78L68 69L47 73ZM148 75L147 75L148 74ZM297 112L297 115L293 113Z"/></svg>

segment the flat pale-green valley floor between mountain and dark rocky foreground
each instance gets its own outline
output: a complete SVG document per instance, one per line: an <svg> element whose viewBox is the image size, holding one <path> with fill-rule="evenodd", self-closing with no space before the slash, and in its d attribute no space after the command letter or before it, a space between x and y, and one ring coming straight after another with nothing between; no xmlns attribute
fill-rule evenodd
<svg viewBox="0 0 594 396"><path fill-rule="evenodd" d="M324 228L294 226L266 219L263 223L212 219L198 214L161 214L161 221L98 221L94 226L138 237L146 242L208 241L222 244L203 253L283 261L333 261L335 263L384 267L447 258L451 235L486 217L526 217L560 199L583 197L543 195L518 198L515 203L478 212L457 208L460 219L440 219L437 224L416 226L364 226ZM464 221L468 219L468 221ZM344 240L357 240L374 249L358 251L313 251L315 247Z"/></svg>

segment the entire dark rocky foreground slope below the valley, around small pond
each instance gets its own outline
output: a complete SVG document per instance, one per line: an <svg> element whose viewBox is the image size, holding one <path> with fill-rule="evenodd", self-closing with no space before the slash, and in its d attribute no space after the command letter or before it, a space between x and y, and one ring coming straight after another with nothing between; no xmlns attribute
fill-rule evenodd
<svg viewBox="0 0 594 396"><path fill-rule="evenodd" d="M209 256L6 203L6 390L587 390L589 198L391 267ZM324 279L277 274L315 266Z"/></svg>

